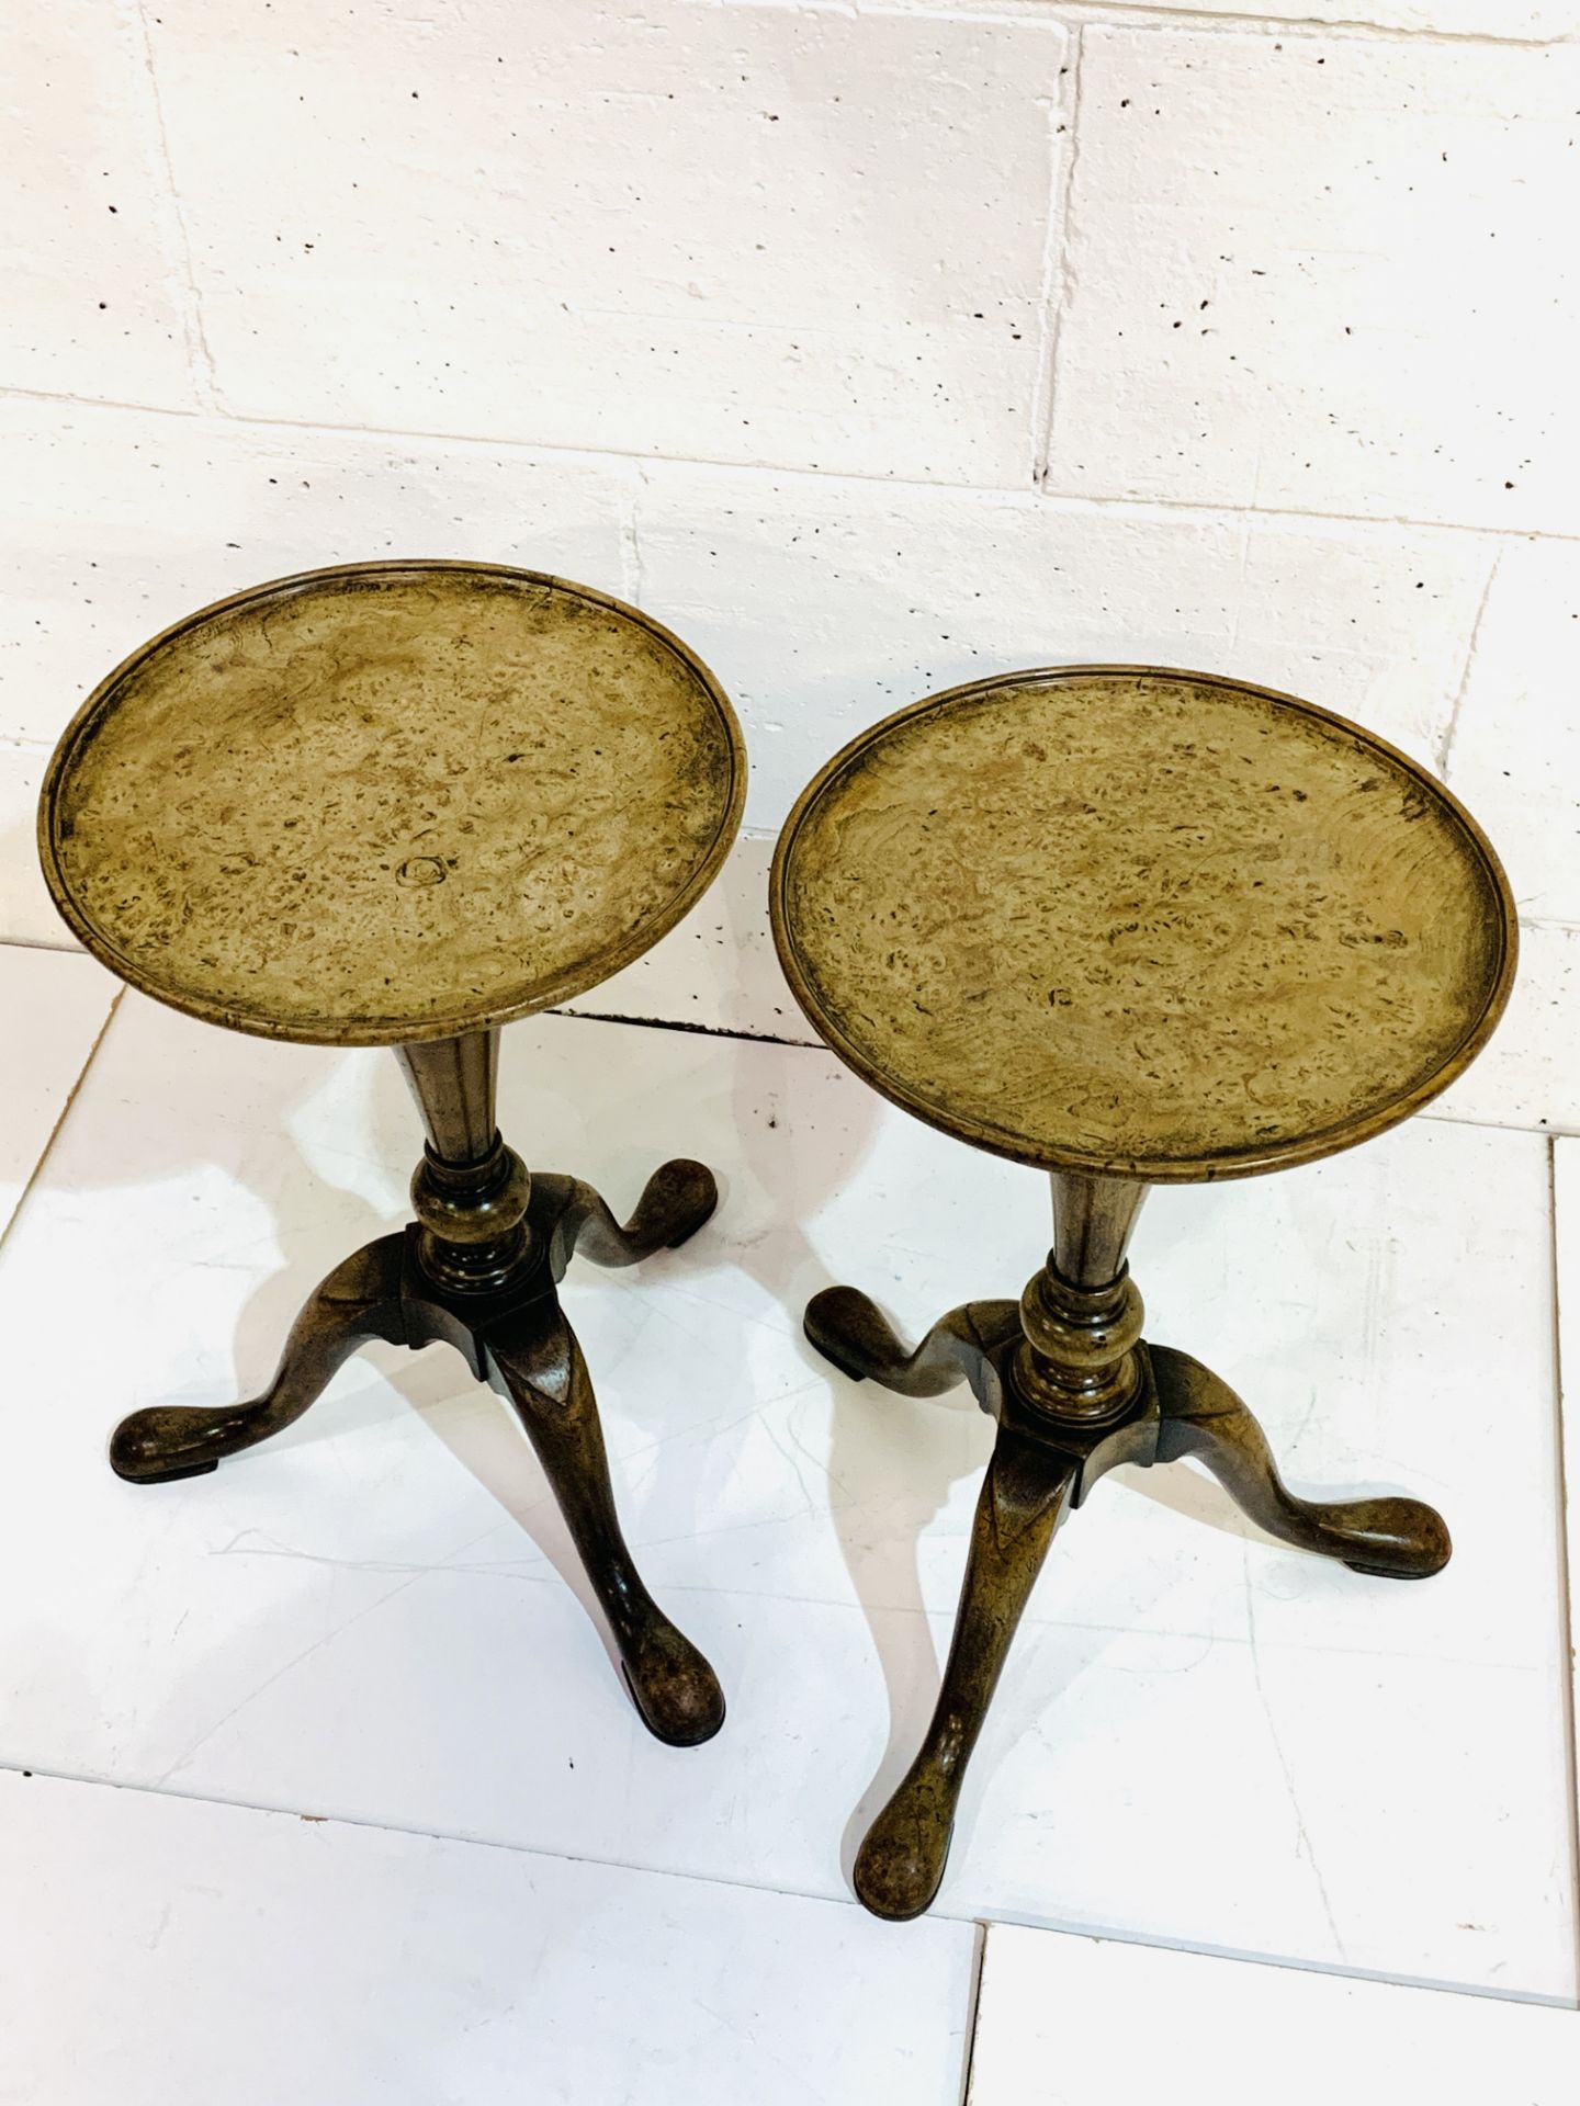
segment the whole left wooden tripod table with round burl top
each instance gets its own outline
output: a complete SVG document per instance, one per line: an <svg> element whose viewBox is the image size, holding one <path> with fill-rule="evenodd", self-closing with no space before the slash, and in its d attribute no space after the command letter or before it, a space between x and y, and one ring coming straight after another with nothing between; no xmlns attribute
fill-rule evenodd
<svg viewBox="0 0 1580 2106"><path fill-rule="evenodd" d="M630 1266L714 1209L666 1163L621 1228L529 1175L495 1127L499 1028L607 979L718 870L746 754L725 693L619 600L482 562L308 571L135 651L51 760L40 855L86 948L211 1024L392 1047L428 1144L417 1221L314 1291L268 1390L156 1407L110 1445L141 1485L196 1476L297 1419L367 1339L455 1346L520 1415L645 1725L691 1746L723 1695L643 1586L556 1287L581 1249Z"/></svg>

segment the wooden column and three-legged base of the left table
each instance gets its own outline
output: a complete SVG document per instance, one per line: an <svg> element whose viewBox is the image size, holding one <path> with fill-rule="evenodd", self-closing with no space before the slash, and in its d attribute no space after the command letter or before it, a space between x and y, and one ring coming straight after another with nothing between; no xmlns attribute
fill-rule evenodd
<svg viewBox="0 0 1580 2106"><path fill-rule="evenodd" d="M666 1163L621 1228L575 1177L529 1175L495 1129L497 1032L400 1047L428 1127L417 1221L364 1245L314 1291L261 1396L124 1419L114 1470L143 1485L198 1476L299 1419L358 1346L445 1342L518 1413L588 1580L626 1685L659 1740L691 1748L725 1721L718 1678L643 1586L615 1516L598 1405L556 1287L573 1253L632 1266L685 1243L718 1203L702 1163Z"/></svg>

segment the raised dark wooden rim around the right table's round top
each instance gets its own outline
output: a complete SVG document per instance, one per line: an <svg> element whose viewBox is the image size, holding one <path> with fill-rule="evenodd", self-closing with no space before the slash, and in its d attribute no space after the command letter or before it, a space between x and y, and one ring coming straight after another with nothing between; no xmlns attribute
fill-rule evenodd
<svg viewBox="0 0 1580 2106"><path fill-rule="evenodd" d="M1304 716L1315 716L1325 724L1348 733L1363 746L1378 754L1384 754L1397 767L1401 767L1414 781L1433 796L1439 804L1445 804L1449 813L1458 819L1470 847L1481 857L1481 863L1492 880L1494 895L1502 914L1500 929L1500 958L1498 973L1494 977L1487 1000L1477 1017L1475 1026L1466 1032L1460 1045L1454 1049L1447 1061L1443 1061L1430 1076L1416 1082L1411 1089L1399 1091L1384 1104L1376 1106L1363 1118L1346 1120L1340 1127L1321 1127L1315 1133L1298 1135L1293 1141L1268 1146L1268 1148L1239 1148L1224 1150L1222 1154L1209 1156L1104 1156L1089 1154L1085 1150L1026 1150L1024 1141L1011 1135L1003 1127L994 1127L988 1120L977 1118L950 1118L944 1116L935 1106L931 1106L916 1091L908 1089L895 1076L878 1070L862 1049L832 1024L819 1002L813 996L811 984L801 969L801 958L796 956L794 939L790 933L790 922L786 914L786 876L790 866L790 855L794 851L796 834L819 800L824 790L843 775L876 739L881 739L895 724L906 722L914 716L927 716L933 710L942 710L952 701L961 701L967 695L990 695L994 689L1003 687L1055 687L1066 680L1077 678L1152 678L1152 680L1199 680L1207 687L1235 689L1241 695L1256 695L1264 701L1283 703L1289 710L1298 710ZM1515 984L1515 969L1519 965L1519 912L1515 908L1515 893L1508 885L1508 874L1504 872L1498 851L1487 840L1485 832L1477 819L1464 809L1464 804L1454 796L1447 783L1439 781L1422 762L1414 760L1409 754L1390 746L1388 739L1380 737L1376 731L1367 731L1365 724L1357 724L1348 716L1340 716L1338 710L1325 710L1317 701L1306 701L1302 695L1287 695L1277 687L1262 687L1258 680L1237 680L1232 674L1218 672L1192 672L1184 665L1030 665L1020 672L990 674L984 680L961 680L956 687L946 687L935 695L923 695L921 701L910 701L902 710L893 710L889 716L878 718L876 724L868 724L849 739L836 754L832 754L822 769L811 777L807 788L801 792L796 802L790 807L790 817L779 828L779 838L773 847L773 868L769 872L769 922L773 927L773 948L779 954L779 965L790 981L790 992L805 1011L809 1024L824 1036L828 1047L851 1068L864 1082L897 1104L904 1112L921 1118L923 1125L933 1127L940 1133L948 1133L954 1139L965 1141L969 1148L982 1148L986 1154L1005 1156L1009 1163L1020 1163L1026 1169L1041 1171L1077 1171L1095 1177L1127 1177L1142 1184L1224 1184L1230 1177L1256 1177L1264 1171L1296 1169L1302 1163L1321 1163L1325 1156L1340 1154L1344 1148L1355 1148L1361 1141L1376 1139L1390 1127L1401 1125L1411 1118L1422 1106L1439 1097L1451 1082L1456 1082L1470 1061L1481 1053L1485 1042L1492 1038L1498 1021L1508 1005L1508 994Z"/></svg>

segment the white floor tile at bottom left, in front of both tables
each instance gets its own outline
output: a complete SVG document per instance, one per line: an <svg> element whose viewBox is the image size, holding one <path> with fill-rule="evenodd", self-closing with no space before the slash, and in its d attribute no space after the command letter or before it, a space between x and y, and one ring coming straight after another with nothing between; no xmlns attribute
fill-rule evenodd
<svg viewBox="0 0 1580 2106"><path fill-rule="evenodd" d="M963 1923L19 1775L0 1881L8 2102L961 2098Z"/></svg>

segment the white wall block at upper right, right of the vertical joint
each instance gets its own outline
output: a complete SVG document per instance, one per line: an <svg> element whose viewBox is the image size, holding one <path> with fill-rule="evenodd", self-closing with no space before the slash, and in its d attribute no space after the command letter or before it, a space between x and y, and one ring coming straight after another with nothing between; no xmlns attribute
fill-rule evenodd
<svg viewBox="0 0 1580 2106"><path fill-rule="evenodd" d="M1089 29L1049 486L1574 531L1580 46Z"/></svg>

